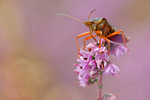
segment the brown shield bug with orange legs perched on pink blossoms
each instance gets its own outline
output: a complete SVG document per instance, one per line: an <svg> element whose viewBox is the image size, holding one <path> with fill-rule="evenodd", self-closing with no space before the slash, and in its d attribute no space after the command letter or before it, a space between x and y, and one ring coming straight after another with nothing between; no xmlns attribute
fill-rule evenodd
<svg viewBox="0 0 150 100"><path fill-rule="evenodd" d="M94 19L90 20L90 16L94 11L95 11L95 9L90 12L88 20L85 21L85 22L81 21L81 20L79 20L75 17L72 17L70 15L57 14L57 15L67 16L67 17L73 18L77 21L80 21L80 22L84 23L89 28L88 32L82 33L82 34L80 34L76 37L76 43L77 43L78 51L80 51L80 48L79 48L77 39L80 38L80 37L83 37L83 36L87 36L87 35L90 35L90 36L87 36L86 38L84 38L84 41L83 41L84 49L85 49L85 41L86 40L89 40L89 39L93 38L98 43L98 41L95 39L96 36L100 37L100 39L99 39L99 48L101 47L101 38L103 38L109 44L109 46L108 46L108 55L109 55L109 51L110 51L111 42L113 42L113 43L114 42L115 43L123 43L124 46L127 47L126 42L129 41L129 38L124 35L122 30L115 29L108 22L108 20L106 18L94 18ZM92 34L93 32L95 32L96 34L93 35Z"/></svg>

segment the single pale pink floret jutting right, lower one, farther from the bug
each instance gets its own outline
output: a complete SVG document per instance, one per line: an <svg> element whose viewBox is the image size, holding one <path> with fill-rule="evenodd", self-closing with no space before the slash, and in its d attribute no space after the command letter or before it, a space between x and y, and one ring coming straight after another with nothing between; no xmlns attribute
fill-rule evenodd
<svg viewBox="0 0 150 100"><path fill-rule="evenodd" d="M109 76L118 76L117 73L120 72L119 68L113 64L113 63L110 63L106 66L104 72L103 72L103 75L109 75ZM119 76L118 76L119 77Z"/></svg>

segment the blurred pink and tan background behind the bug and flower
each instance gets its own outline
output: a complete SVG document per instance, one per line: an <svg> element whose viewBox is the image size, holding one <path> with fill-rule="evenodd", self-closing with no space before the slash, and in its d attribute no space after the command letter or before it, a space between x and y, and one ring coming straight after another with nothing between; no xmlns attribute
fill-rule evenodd
<svg viewBox="0 0 150 100"><path fill-rule="evenodd" d="M88 28L56 15L86 21L93 9L91 18L105 17L131 38L131 55L111 57L120 78L104 77L102 92L118 100L149 100L149 0L0 0L0 100L96 100L97 84L74 84L75 37Z"/></svg>

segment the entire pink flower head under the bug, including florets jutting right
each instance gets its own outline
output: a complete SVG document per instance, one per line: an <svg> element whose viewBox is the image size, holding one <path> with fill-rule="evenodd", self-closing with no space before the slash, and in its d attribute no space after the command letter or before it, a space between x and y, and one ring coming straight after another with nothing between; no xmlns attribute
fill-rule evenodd
<svg viewBox="0 0 150 100"><path fill-rule="evenodd" d="M104 40L101 44L101 48L97 43L90 43L86 46L85 50L81 49L78 54L79 58L75 65L75 72L78 74L79 85L86 87L96 82L99 75L105 76L118 76L120 72L119 68L110 62L107 50L107 44L105 45ZM123 45L111 44L110 53L117 58L119 55L127 53L128 49ZM118 76L119 77L119 76Z"/></svg>

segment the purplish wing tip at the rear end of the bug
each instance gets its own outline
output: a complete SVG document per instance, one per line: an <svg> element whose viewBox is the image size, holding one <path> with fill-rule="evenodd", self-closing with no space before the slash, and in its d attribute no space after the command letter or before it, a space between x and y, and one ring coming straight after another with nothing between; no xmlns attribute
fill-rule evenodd
<svg viewBox="0 0 150 100"><path fill-rule="evenodd" d="M128 42L130 39L126 36L125 37L125 42ZM113 42L117 42L117 43L124 43L123 38L122 38L122 34L117 34L114 35L112 37L108 38L109 40L113 41Z"/></svg>

